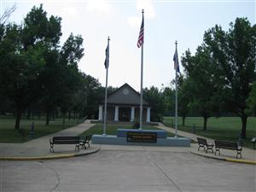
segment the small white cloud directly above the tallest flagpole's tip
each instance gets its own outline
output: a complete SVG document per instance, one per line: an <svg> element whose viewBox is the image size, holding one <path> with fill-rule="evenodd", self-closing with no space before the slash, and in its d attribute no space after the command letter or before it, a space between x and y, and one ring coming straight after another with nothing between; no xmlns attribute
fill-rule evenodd
<svg viewBox="0 0 256 192"><path fill-rule="evenodd" d="M154 5L151 0L137 0L137 10L141 11L142 9L144 9L145 17L155 17Z"/></svg>

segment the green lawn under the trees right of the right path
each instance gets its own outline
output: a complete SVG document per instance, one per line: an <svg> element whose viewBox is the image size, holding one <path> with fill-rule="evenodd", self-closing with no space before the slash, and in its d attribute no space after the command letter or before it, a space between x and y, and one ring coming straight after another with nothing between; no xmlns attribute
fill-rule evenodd
<svg viewBox="0 0 256 192"><path fill-rule="evenodd" d="M164 124L172 127L173 117L166 117ZM203 118L188 117L185 126L182 125L182 118L177 119L177 129L192 132L195 124L195 134L212 139L237 142L241 131L241 119L238 117L209 118L207 121L207 131L203 131ZM173 125L174 126L174 125ZM256 137L256 117L247 119L247 138L243 140L244 146L253 148L250 140Z"/></svg>

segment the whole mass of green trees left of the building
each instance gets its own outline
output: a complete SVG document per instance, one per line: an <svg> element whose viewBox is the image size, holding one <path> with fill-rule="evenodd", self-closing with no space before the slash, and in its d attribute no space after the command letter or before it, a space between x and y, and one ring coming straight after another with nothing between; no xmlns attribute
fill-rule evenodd
<svg viewBox="0 0 256 192"><path fill-rule="evenodd" d="M71 33L61 45L61 18L49 16L41 4L21 24L7 23L15 8L0 19L0 113L15 114L20 129L22 113L55 113L78 117L95 113L103 92L97 79L79 71L83 38Z"/></svg>

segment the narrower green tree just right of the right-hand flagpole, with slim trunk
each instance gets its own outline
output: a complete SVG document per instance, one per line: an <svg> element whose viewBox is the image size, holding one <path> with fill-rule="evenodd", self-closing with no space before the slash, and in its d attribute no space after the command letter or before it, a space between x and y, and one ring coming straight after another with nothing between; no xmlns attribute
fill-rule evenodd
<svg viewBox="0 0 256 192"><path fill-rule="evenodd" d="M182 64L187 75L187 82L189 82L183 88L190 93L189 107L201 113L204 119L203 129L207 130L207 119L219 109L219 87L212 76L216 70L214 62L210 58L209 50L199 46L194 56L189 50L186 51Z"/></svg>

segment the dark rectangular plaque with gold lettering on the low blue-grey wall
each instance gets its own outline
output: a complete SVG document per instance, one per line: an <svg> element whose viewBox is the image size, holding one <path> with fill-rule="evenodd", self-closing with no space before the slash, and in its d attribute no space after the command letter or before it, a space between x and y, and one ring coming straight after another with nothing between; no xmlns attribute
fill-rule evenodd
<svg viewBox="0 0 256 192"><path fill-rule="evenodd" d="M127 142L156 143L157 133L146 131L128 131L126 138Z"/></svg>

